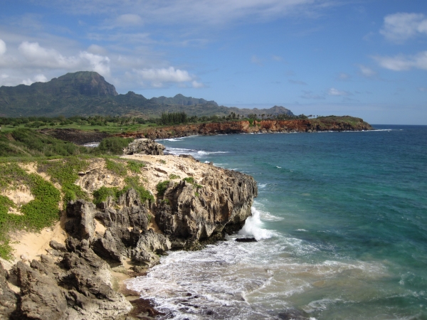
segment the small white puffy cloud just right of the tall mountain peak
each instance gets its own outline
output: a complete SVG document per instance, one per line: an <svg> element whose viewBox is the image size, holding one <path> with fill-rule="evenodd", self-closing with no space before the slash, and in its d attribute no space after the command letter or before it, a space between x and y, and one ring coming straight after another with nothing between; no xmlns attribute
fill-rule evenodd
<svg viewBox="0 0 427 320"><path fill-rule="evenodd" d="M139 76L140 80L150 81L153 87L163 87L163 85L168 82L183 83L193 80L188 71L175 69L174 67L150 68L134 71Z"/></svg>

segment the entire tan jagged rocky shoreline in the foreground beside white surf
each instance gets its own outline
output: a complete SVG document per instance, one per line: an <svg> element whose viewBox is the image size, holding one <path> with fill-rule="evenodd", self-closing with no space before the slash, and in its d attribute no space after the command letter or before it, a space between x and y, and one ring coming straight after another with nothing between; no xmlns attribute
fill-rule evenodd
<svg viewBox="0 0 427 320"><path fill-rule="evenodd" d="M61 222L65 241L51 240L45 254L31 261L26 255L14 265L1 261L0 319L150 319L157 311L136 292L123 286L117 291L113 274L142 275L167 250L198 250L239 230L251 215L258 193L251 176L189 156L124 158L142 161L138 175L156 197L142 201L129 188L97 205L68 203ZM75 182L88 194L101 186L118 188L132 176L112 174L103 161L94 160ZM156 190L161 181L162 193Z"/></svg>

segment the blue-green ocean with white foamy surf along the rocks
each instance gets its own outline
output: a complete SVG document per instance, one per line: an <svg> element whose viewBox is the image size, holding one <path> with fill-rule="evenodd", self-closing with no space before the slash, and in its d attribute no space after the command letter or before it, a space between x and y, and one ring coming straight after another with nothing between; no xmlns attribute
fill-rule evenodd
<svg viewBox="0 0 427 320"><path fill-rule="evenodd" d="M427 127L374 127L160 140L259 194L239 233L128 287L163 319L427 319Z"/></svg>

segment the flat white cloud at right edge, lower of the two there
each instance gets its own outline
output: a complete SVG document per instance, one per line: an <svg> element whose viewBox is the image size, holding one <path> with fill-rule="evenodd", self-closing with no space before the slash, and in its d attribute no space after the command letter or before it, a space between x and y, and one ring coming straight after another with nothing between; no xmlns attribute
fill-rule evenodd
<svg viewBox="0 0 427 320"><path fill-rule="evenodd" d="M396 55L394 57L373 57L381 67L394 70L404 71L412 68L427 70L427 51L417 53L416 55Z"/></svg>

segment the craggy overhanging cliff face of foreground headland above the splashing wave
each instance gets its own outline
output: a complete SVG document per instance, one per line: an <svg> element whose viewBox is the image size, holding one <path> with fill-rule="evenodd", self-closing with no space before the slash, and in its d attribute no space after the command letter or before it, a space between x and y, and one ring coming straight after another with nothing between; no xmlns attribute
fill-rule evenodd
<svg viewBox="0 0 427 320"><path fill-rule="evenodd" d="M235 171L209 174L201 185L186 181L172 184L164 193L156 222L167 235L203 240L221 233L226 225L233 230L243 226L251 215L256 183Z"/></svg>

